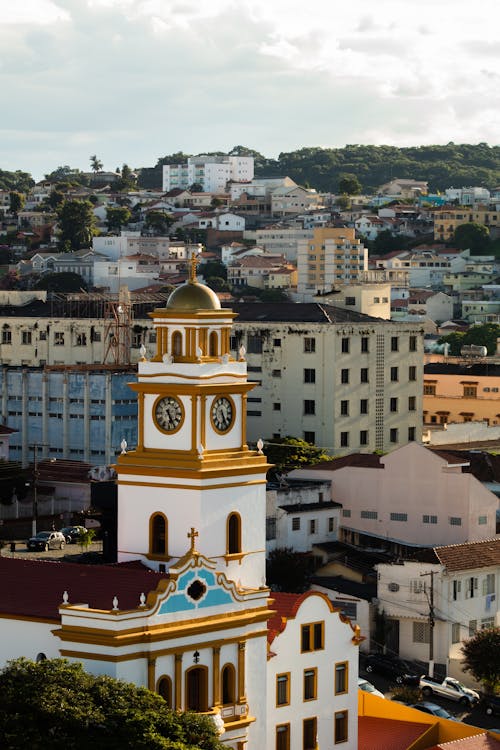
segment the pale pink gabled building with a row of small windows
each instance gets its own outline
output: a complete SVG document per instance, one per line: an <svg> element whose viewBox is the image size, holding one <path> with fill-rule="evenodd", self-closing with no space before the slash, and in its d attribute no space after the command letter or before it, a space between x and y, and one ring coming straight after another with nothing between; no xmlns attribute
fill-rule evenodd
<svg viewBox="0 0 500 750"><path fill-rule="evenodd" d="M330 479L342 499L341 538L359 543L361 534L393 547L461 544L496 535L498 498L471 473L465 459L446 457L409 443L365 465L298 469L293 478Z"/></svg>

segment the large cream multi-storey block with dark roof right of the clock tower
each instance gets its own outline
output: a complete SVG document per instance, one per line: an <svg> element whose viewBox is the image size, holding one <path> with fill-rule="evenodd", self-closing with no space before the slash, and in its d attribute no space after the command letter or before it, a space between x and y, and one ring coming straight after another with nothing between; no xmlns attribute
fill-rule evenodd
<svg viewBox="0 0 500 750"><path fill-rule="evenodd" d="M332 455L420 439L423 334L319 304L240 304L232 351L246 348L257 387L248 437L294 435Z"/></svg>

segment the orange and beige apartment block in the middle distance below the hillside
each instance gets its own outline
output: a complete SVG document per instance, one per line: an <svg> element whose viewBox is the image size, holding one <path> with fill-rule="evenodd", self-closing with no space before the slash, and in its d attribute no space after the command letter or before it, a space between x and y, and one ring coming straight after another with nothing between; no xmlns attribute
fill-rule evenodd
<svg viewBox="0 0 500 750"><path fill-rule="evenodd" d="M358 281L368 268L368 250L354 229L314 229L311 239L298 243L297 291L303 295L328 292L342 282Z"/></svg>

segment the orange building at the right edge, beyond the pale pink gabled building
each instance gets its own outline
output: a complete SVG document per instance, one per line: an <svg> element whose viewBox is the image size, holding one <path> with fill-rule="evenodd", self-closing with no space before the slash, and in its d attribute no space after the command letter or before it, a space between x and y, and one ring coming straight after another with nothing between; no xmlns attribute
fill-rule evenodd
<svg viewBox="0 0 500 750"><path fill-rule="evenodd" d="M451 359L451 358L450 358ZM424 368L425 424L500 424L500 364L453 358Z"/></svg>

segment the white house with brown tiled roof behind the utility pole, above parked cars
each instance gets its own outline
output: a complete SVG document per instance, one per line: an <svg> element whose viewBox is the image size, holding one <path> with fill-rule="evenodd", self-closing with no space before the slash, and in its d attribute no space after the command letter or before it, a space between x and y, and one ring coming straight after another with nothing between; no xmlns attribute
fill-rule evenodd
<svg viewBox="0 0 500 750"><path fill-rule="evenodd" d="M460 664L461 646L477 630L500 623L500 539L436 547L434 553L434 563L376 566L379 610L400 656L428 661L432 638L434 662L445 674L470 683Z"/></svg>

